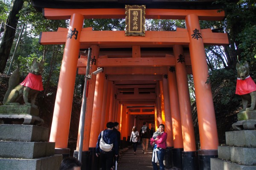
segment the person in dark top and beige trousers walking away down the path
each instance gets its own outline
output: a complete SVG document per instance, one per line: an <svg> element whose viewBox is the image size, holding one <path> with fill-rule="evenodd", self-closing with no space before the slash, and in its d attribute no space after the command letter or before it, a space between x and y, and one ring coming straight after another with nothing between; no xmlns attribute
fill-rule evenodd
<svg viewBox="0 0 256 170"><path fill-rule="evenodd" d="M147 154L148 152L148 140L150 139L150 132L146 126L146 122L143 121L143 126L140 128L140 138L142 142L142 152Z"/></svg>

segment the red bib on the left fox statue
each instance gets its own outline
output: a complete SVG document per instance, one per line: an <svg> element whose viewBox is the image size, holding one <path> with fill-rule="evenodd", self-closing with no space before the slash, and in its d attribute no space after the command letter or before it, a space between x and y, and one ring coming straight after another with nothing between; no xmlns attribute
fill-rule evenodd
<svg viewBox="0 0 256 170"><path fill-rule="evenodd" d="M25 80L20 83L21 86L27 86L30 89L42 91L43 88L43 82L42 82L42 75L34 75L32 73L29 73Z"/></svg>

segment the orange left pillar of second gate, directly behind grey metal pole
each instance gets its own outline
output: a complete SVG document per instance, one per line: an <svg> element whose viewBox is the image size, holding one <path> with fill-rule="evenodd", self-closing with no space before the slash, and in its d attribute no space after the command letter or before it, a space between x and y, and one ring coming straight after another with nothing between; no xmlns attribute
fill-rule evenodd
<svg viewBox="0 0 256 170"><path fill-rule="evenodd" d="M91 61L91 68L90 73L97 70L97 59L99 56L99 46L91 46L92 48L92 61ZM94 58L95 57L95 58ZM95 59L95 63L93 62ZM89 141L90 141L90 130L91 130L91 123L92 123L92 112L93 112L93 100L94 100L94 91L95 91L95 84L96 84L96 76L92 75L92 78L88 81L88 96L86 101L86 111L85 111L85 122L84 122L84 141L83 141L83 151L89 150ZM79 126L80 128L80 126ZM80 133L78 134L78 138ZM79 140L76 145L76 150L79 150Z"/></svg>

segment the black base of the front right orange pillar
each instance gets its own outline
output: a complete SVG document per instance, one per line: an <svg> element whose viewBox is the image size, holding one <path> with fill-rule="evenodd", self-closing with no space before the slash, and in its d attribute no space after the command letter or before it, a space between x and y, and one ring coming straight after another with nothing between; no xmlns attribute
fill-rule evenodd
<svg viewBox="0 0 256 170"><path fill-rule="evenodd" d="M199 170L211 170L210 158L218 158L218 150L198 150Z"/></svg>

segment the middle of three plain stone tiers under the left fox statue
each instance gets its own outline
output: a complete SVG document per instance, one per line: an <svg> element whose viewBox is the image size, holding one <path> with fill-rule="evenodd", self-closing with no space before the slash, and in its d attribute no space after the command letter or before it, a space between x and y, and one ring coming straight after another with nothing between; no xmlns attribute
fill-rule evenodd
<svg viewBox="0 0 256 170"><path fill-rule="evenodd" d="M55 142L0 141L2 158L39 158L54 155Z"/></svg>

